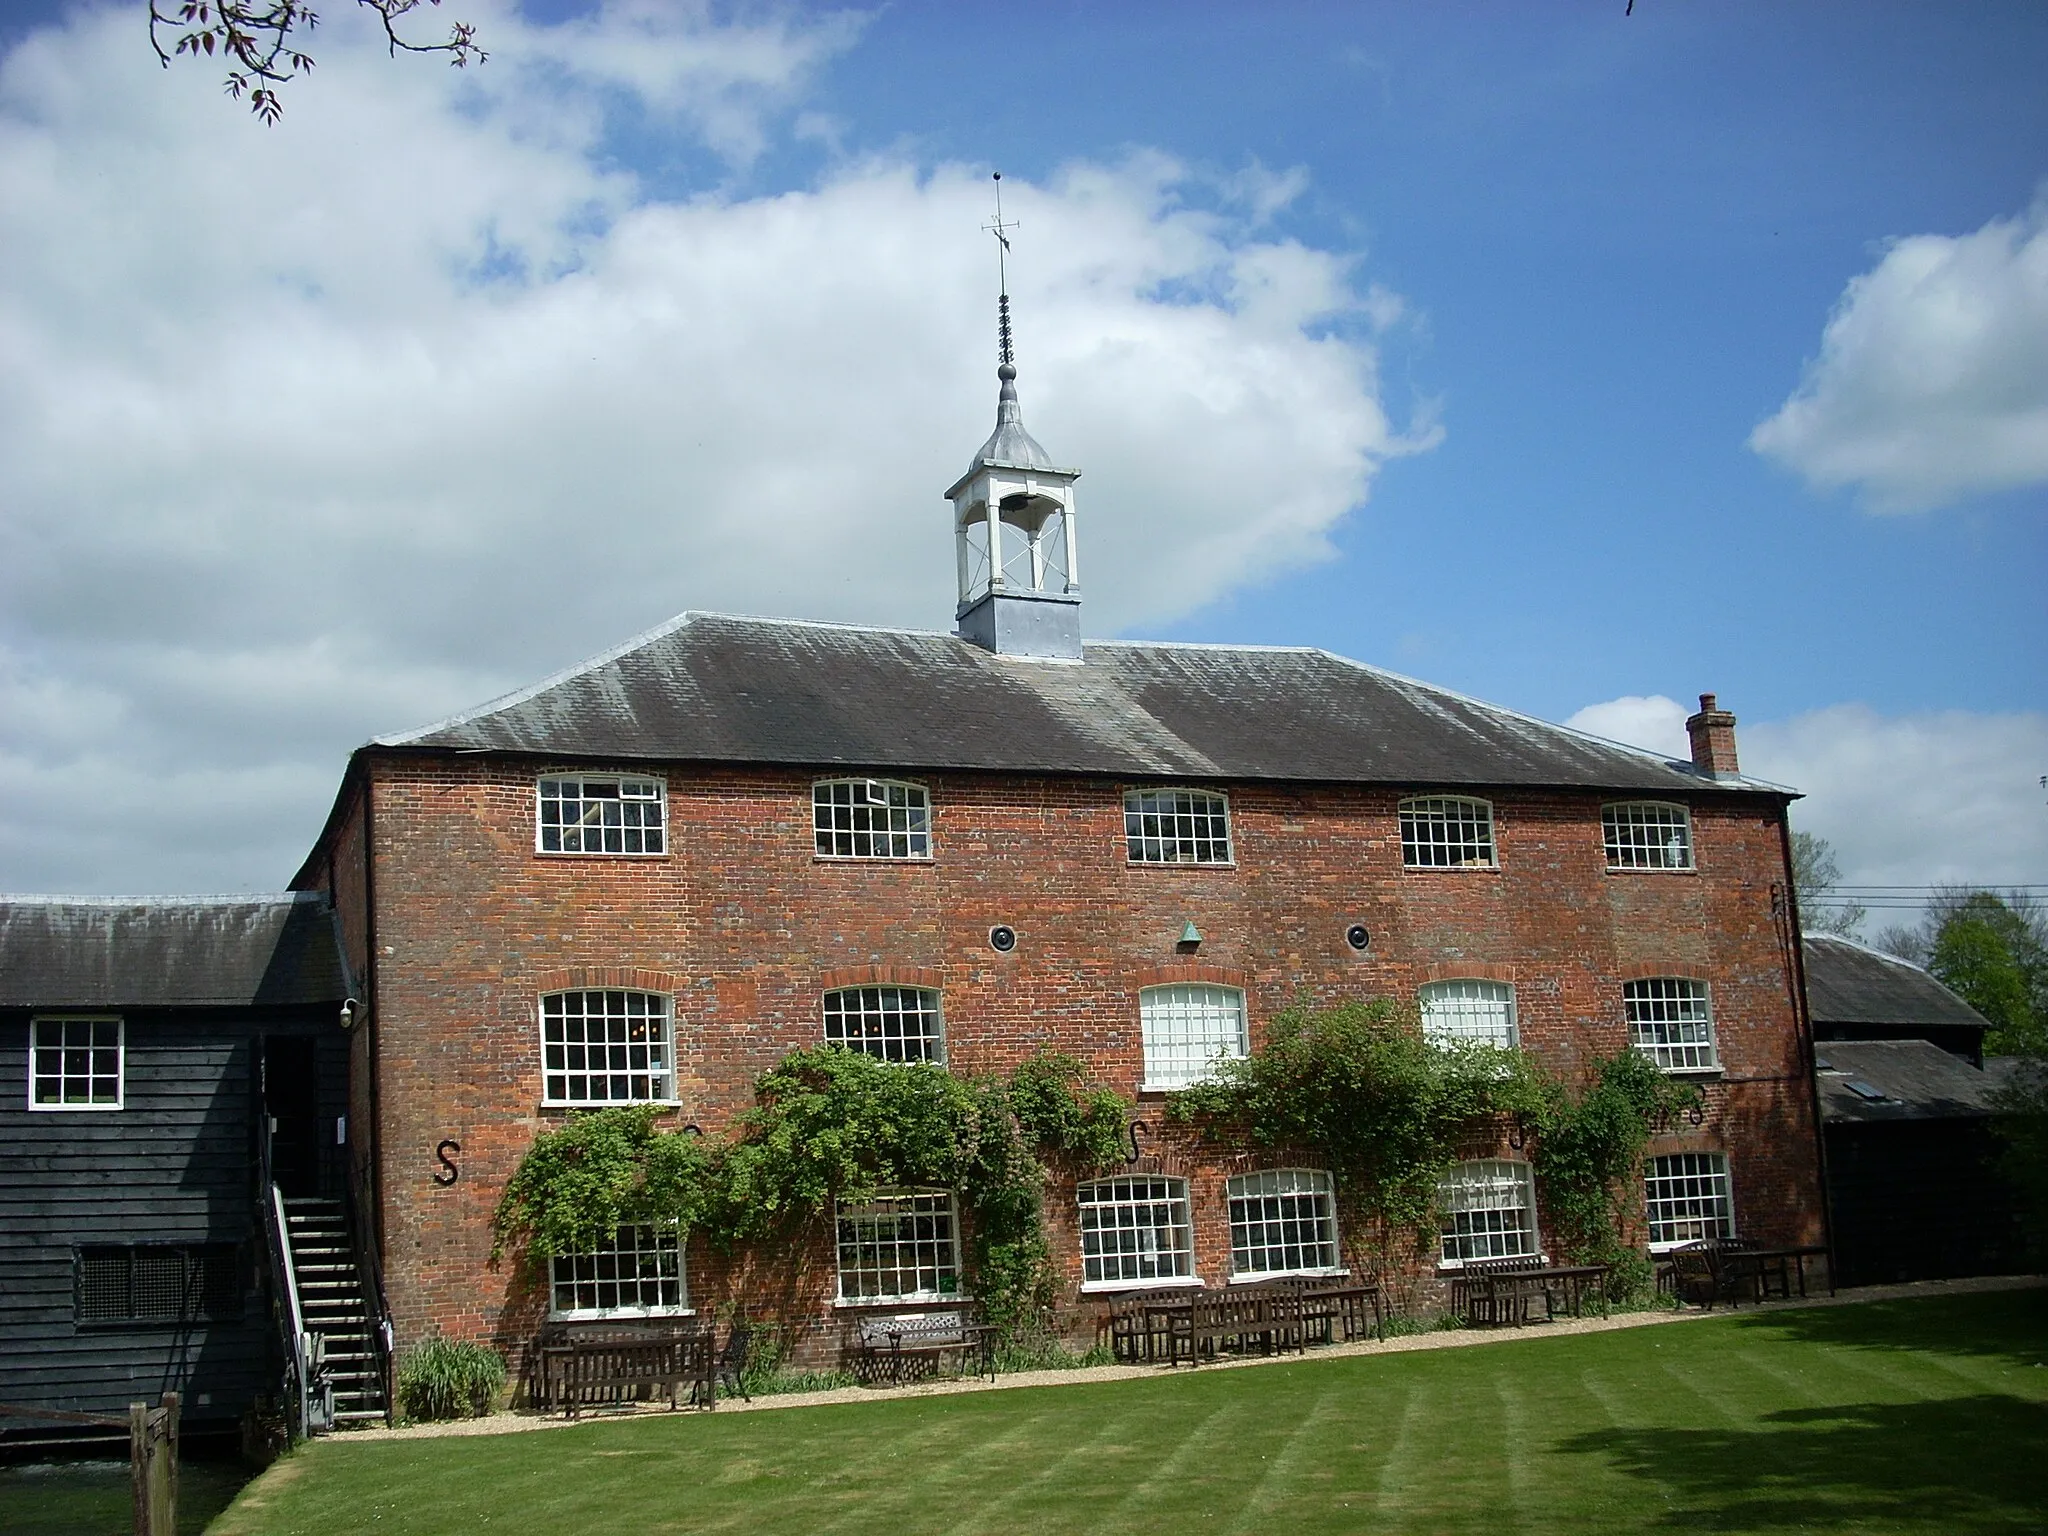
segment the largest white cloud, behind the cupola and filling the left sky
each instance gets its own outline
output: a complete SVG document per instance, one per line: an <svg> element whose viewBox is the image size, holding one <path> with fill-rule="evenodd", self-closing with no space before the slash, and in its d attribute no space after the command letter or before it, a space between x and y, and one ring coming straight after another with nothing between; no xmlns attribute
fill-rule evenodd
<svg viewBox="0 0 2048 1536"><path fill-rule="evenodd" d="M854 23L471 4L457 74L350 10L276 129L133 12L0 63L0 887L274 885L348 748L682 608L950 623L983 174L651 201L604 137L741 166ZM1325 557L1436 440L1350 340L1399 299L1270 229L1296 193L1143 152L1006 180L1090 633Z"/></svg>

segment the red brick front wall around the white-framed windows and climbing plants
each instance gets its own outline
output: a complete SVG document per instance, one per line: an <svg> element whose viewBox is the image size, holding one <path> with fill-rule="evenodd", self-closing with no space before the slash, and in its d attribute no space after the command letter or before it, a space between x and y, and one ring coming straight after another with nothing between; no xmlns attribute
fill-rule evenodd
<svg viewBox="0 0 2048 1536"><path fill-rule="evenodd" d="M1178 975L1243 985L1257 1042L1296 995L1413 997L1432 979L1511 981L1522 1042L1583 1071L1626 1044L1622 981L1712 983L1724 1077L1700 1126L1669 1147L1724 1149L1741 1229L1819 1241L1808 1096L1772 887L1786 881L1767 797L1694 807L1694 872L1610 872L1599 797L1493 795L1497 870L1405 870L1399 791L1237 786L1233 868L1133 866L1124 784L930 774L934 858L819 860L811 774L678 766L662 858L535 854L545 762L371 756L379 1163L387 1286L401 1339L428 1327L518 1339L545 1298L487 1266L489 1214L518 1157L559 1112L541 1108L537 1004L549 989L674 993L680 1118L721 1130L756 1073L821 1040L827 985L940 985L956 1069L1001 1069L1053 1047L1133 1094L1139 985ZM596 768L596 764L592 764ZM354 821L344 823L346 827ZM1182 926L1202 932L1196 954ZM997 954L993 924L1018 932ZM1346 944L1366 924L1368 952ZM1157 1104L1141 1106L1157 1124ZM461 1141L436 1186L434 1147ZM1188 1165L1196 1266L1227 1278L1225 1161ZM1272 1163L1264 1163L1272 1165ZM1053 1198L1069 1303L1079 1282L1071 1192ZM727 1268L692 1245L690 1282L715 1303ZM758 1303L829 1327L827 1233L799 1280L750 1260ZM1430 1276L1421 1276L1427 1280Z"/></svg>

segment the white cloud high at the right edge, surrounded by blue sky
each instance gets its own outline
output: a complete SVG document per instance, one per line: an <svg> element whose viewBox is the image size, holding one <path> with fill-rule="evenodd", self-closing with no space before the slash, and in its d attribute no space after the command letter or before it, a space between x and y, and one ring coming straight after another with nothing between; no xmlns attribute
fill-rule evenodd
<svg viewBox="0 0 2048 1536"><path fill-rule="evenodd" d="M1976 233L1894 240L1749 446L1876 512L2048 483L2048 188Z"/></svg>

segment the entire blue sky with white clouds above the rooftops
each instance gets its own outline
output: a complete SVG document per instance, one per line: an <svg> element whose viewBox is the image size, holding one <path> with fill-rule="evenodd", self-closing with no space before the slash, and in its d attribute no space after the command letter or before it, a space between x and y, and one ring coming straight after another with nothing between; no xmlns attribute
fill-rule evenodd
<svg viewBox="0 0 2048 1536"><path fill-rule="evenodd" d="M2048 8L442 10L279 129L0 27L0 889L274 885L682 608L946 627L989 168L1090 633L1714 690L1851 879L2048 881Z"/></svg>

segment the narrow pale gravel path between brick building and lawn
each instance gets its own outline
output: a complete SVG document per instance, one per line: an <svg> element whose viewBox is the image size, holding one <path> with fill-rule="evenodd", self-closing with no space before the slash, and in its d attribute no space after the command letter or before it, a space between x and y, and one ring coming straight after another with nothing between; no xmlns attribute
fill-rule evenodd
<svg viewBox="0 0 2048 1536"><path fill-rule="evenodd" d="M1905 1296L1962 1296L1980 1290L2032 1290L2048 1286L2048 1276L2015 1274L1987 1276L1980 1280L1921 1280L1909 1286L1858 1286L1839 1296L1806 1296L1800 1300L1769 1300L1761 1307L1743 1309L1743 1317L1753 1313L1784 1313L1800 1307L1858 1307L1868 1300L1898 1300ZM1620 1317L1575 1317L1561 1323L1532 1323L1530 1327L1507 1329L1444 1329L1442 1333L1409 1333L1397 1339L1368 1339L1360 1343L1333 1343L1309 1356L1251 1356L1243 1360L1217 1360L1202 1370L1257 1370L1300 1360L1348 1360L1368 1354L1409 1354L1413 1350L1470 1350L1511 1339L1550 1339L1561 1333L1612 1333L1624 1327L1663 1327L1667 1323L1696 1323L1702 1317L1729 1317L1726 1311L1702 1311L1688 1307L1675 1313L1622 1313ZM1077 1382L1141 1380L1163 1376L1169 1366L1081 1366L1075 1370L1020 1370L997 1380L934 1380L915 1386L838 1386L829 1393L778 1393L752 1403L727 1397L719 1401L719 1413L770 1413L774 1409L817 1407L821 1403L877 1403L891 1397L952 1397L956 1393L1008 1393L1018 1386L1069 1386ZM618 1409L594 1409L573 1423L598 1423L668 1413L666 1405L633 1403ZM524 1430L565 1430L571 1419L539 1413L489 1413L481 1419L457 1419L453 1423L408 1423L397 1430L348 1430L338 1440L350 1444L365 1440L434 1440L440 1436L504 1436Z"/></svg>

